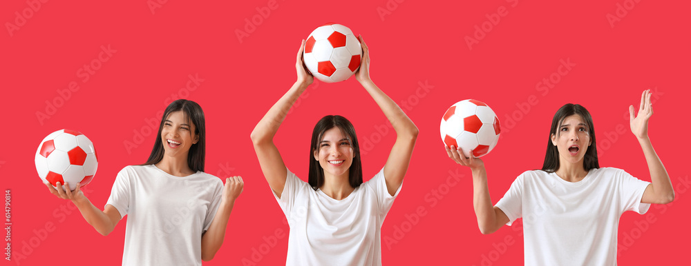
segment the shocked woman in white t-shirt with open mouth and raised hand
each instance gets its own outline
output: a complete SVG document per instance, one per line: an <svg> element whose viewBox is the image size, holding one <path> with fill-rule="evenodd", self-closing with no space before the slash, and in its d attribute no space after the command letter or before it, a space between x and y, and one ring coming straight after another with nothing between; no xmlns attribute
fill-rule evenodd
<svg viewBox="0 0 691 266"><path fill-rule="evenodd" d="M631 131L643 149L652 183L613 167L600 168L591 116L581 105L562 106L552 119L542 170L518 176L492 206L480 158L446 147L473 172L473 205L482 234L523 218L525 265L616 265L616 233L625 211L645 214L650 203L674 200L670 176L647 136L650 90L641 95Z"/></svg>

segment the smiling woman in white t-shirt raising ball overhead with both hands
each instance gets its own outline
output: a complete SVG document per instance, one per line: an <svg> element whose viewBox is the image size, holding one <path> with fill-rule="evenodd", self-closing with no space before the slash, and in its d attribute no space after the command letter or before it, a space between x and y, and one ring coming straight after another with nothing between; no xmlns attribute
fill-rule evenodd
<svg viewBox="0 0 691 266"><path fill-rule="evenodd" d="M384 165L362 183L360 148L352 124L343 116L324 116L312 132L309 183L287 170L273 138L291 105L314 81L297 54L297 81L252 131L252 142L269 187L288 225L286 265L381 265L381 223L408 170L417 139L413 121L372 83L367 45L355 79L372 96L396 131Z"/></svg>

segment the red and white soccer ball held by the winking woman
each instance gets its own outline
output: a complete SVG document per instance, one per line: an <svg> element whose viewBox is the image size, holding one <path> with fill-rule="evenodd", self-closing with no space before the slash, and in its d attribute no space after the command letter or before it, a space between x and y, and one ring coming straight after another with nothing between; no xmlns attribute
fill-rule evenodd
<svg viewBox="0 0 691 266"><path fill-rule="evenodd" d="M36 171L44 183L70 184L70 190L91 182L98 167L93 143L74 130L58 130L41 141L34 157ZM57 188L57 187L56 187Z"/></svg>

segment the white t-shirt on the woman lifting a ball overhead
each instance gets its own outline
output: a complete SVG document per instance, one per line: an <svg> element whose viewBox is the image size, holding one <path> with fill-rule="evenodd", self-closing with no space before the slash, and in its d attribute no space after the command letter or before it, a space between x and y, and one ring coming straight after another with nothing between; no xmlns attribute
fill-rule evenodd
<svg viewBox="0 0 691 266"><path fill-rule="evenodd" d="M290 226L285 264L381 265L381 223L401 187L391 196L382 169L337 201L287 170L274 194Z"/></svg>

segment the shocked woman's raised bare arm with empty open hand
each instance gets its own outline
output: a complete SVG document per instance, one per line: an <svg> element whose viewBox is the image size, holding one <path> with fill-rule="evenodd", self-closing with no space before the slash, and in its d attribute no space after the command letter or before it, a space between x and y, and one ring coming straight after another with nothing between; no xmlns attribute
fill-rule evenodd
<svg viewBox="0 0 691 266"><path fill-rule="evenodd" d="M634 105L629 106L631 132L634 133L638 143L641 144L643 155L650 170L652 184L648 185L643 192L641 203L667 204L674 201L674 188L667 173L665 165L662 164L660 157L650 143L647 135L647 125L652 116L652 103L650 103L650 90L643 91L641 94L641 106L638 108L638 115L634 117Z"/></svg>

